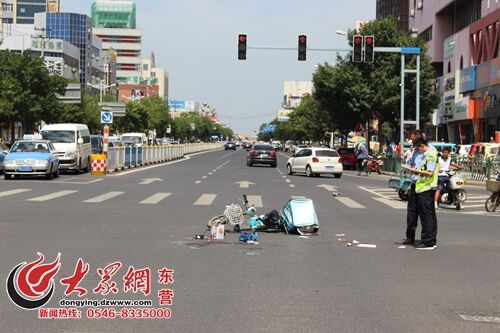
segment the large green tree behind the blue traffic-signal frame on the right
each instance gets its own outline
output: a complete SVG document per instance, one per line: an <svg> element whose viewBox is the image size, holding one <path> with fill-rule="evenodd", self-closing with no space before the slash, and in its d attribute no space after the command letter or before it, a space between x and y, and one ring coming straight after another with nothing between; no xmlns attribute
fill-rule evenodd
<svg viewBox="0 0 500 333"><path fill-rule="evenodd" d="M354 34L373 35L378 47L420 47L421 54L421 118L429 120L439 99L432 89L434 71L425 54L422 39L415 39L397 29L394 18L374 20L364 24L360 31L350 31L352 45ZM407 57L407 67L415 67L416 56ZM400 113L401 56L395 53L376 53L375 62L352 63L350 55L337 57L335 65L324 64L314 73L314 98L329 113L329 122L343 133L376 119L397 128ZM415 117L415 75L406 79L406 114ZM386 131L387 133L387 131ZM394 132L396 133L396 132Z"/></svg>

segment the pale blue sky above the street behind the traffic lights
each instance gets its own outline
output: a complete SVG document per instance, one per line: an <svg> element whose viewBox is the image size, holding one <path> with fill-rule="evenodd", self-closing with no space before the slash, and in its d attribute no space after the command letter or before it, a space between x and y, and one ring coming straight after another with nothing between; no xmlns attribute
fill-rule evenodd
<svg viewBox="0 0 500 333"><path fill-rule="evenodd" d="M61 0L62 11L90 15L93 0ZM348 47L336 30L375 18L375 0L137 0L143 57L169 72L169 98L208 103L236 133L251 134L276 116L284 81L310 81L334 52L248 50L237 59L238 34L248 46Z"/></svg>

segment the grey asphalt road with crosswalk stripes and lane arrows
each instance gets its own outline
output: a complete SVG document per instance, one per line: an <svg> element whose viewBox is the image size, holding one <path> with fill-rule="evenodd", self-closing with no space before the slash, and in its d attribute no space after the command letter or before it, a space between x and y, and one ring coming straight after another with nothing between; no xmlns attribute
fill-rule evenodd
<svg viewBox="0 0 500 333"><path fill-rule="evenodd" d="M193 155L168 165L105 178L0 181L0 276L22 262L61 253L59 280L78 258L90 271L81 299L150 299L159 308L157 270L173 268L170 319L38 319L38 311L0 297L2 332L498 332L500 214L480 207L487 192L469 187L463 211L440 209L438 248L399 248L405 204L388 191L388 177L287 176L245 164L245 152ZM240 188L239 182L253 184ZM331 192L340 194L332 196ZM243 193L258 213L280 209L292 196L314 200L320 233L262 234L258 245L193 240L210 217ZM262 201L262 206L260 206ZM418 233L420 230L417 231ZM345 234L344 236L336 236ZM357 240L376 248L348 247ZM340 241L339 241L340 239ZM93 293L98 268L123 266L112 278L118 293ZM124 292L129 266L151 269L151 293Z"/></svg>

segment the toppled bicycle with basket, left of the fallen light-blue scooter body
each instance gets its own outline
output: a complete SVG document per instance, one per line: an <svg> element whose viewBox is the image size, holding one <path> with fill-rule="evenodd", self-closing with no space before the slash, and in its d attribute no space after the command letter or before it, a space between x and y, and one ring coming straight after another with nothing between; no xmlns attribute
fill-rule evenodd
<svg viewBox="0 0 500 333"><path fill-rule="evenodd" d="M220 224L229 224L233 226L235 232L240 232L242 229L250 229L250 219L256 216L255 207L252 205L248 207L248 199L246 194L243 194L243 200L239 199L243 204L243 208L236 203L232 203L226 206L224 213L222 215L216 215L212 217L208 223L207 227L212 228Z"/></svg>

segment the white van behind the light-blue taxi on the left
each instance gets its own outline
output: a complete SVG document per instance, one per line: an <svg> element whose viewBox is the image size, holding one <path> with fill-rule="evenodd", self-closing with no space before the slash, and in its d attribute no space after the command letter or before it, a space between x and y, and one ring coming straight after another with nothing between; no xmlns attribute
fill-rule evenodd
<svg viewBox="0 0 500 333"><path fill-rule="evenodd" d="M60 170L73 170L76 173L80 173L81 170L89 170L92 147L87 125L46 125L40 134L44 140L50 140L57 149Z"/></svg>

